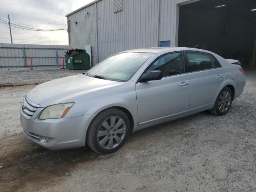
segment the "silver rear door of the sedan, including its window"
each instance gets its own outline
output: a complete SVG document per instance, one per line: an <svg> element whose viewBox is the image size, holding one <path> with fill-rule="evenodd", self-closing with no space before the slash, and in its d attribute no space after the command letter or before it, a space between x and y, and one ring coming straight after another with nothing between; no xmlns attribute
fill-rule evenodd
<svg viewBox="0 0 256 192"><path fill-rule="evenodd" d="M224 82L224 71L218 60L204 52L186 51L190 79L190 110L207 109Z"/></svg>

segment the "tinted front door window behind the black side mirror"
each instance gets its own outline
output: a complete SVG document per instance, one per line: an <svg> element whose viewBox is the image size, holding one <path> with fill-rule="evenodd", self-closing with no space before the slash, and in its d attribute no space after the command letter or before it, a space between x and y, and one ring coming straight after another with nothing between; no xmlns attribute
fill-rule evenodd
<svg viewBox="0 0 256 192"><path fill-rule="evenodd" d="M163 77L184 73L182 52L170 53L162 56L148 68L148 71L162 71Z"/></svg>

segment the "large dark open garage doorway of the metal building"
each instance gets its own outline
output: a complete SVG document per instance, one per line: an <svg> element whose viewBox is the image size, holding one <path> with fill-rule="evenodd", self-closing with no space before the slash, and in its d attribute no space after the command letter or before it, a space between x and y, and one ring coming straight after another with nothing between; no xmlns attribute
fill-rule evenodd
<svg viewBox="0 0 256 192"><path fill-rule="evenodd" d="M254 10L255 9L255 10ZM180 6L178 46L255 62L256 0L200 0Z"/></svg>

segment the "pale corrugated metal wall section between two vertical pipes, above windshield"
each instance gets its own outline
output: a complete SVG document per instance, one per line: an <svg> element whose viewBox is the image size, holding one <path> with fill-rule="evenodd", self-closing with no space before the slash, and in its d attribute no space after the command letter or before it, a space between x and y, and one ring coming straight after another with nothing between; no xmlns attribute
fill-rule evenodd
<svg viewBox="0 0 256 192"><path fill-rule="evenodd" d="M98 2L99 60L123 50L156 46L157 15L157 1L125 0L123 10L116 13L113 0Z"/></svg>

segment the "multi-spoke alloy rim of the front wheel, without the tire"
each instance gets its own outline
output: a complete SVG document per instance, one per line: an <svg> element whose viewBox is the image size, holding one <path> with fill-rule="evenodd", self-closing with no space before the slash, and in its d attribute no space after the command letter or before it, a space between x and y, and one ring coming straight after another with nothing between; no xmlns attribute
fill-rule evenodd
<svg viewBox="0 0 256 192"><path fill-rule="evenodd" d="M112 149L118 146L124 139L126 124L121 117L111 116L104 120L97 133L100 146L104 149Z"/></svg>

